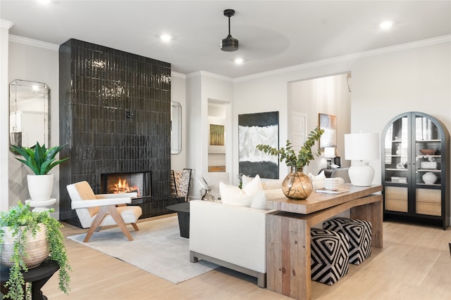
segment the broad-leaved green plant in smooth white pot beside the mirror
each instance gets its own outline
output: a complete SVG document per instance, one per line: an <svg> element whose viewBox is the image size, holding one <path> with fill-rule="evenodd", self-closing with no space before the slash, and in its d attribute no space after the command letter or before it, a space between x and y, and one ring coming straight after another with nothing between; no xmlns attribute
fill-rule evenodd
<svg viewBox="0 0 451 300"><path fill-rule="evenodd" d="M66 145L54 146L47 149L44 144L39 145L39 142L36 142L36 145L31 148L11 145L11 148L15 152L24 157L24 159L15 158L30 167L35 173L35 175L27 175L28 192L33 201L49 200L54 184L54 174L48 173L53 167L69 159L69 157L66 157L55 160L56 154L64 147Z"/></svg>

